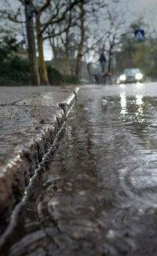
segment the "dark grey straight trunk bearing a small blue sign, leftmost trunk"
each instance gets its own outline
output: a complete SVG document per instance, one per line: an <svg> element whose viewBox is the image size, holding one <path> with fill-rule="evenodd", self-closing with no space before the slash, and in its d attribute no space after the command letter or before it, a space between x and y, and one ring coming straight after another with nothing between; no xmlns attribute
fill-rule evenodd
<svg viewBox="0 0 157 256"><path fill-rule="evenodd" d="M28 52L28 63L30 70L31 86L39 86L40 80L38 75L38 61L36 57L35 49L35 31L33 24L33 16L27 15L27 6L31 6L31 0L25 2L25 13L26 13L26 30L27 30L27 52Z"/></svg>

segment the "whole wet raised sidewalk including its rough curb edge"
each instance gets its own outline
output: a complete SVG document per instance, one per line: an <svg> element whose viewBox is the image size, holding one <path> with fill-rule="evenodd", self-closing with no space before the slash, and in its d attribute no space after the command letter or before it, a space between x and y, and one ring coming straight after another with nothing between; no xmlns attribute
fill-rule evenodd
<svg viewBox="0 0 157 256"><path fill-rule="evenodd" d="M0 87L0 220L24 195L78 90L76 86Z"/></svg>

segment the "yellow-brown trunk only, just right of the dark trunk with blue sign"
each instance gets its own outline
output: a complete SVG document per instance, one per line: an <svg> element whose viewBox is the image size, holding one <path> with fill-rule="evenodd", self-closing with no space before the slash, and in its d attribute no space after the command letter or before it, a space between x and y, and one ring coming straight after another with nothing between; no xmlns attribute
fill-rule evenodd
<svg viewBox="0 0 157 256"><path fill-rule="evenodd" d="M46 86L49 84L49 79L47 75L46 63L44 60L43 38L41 34L40 16L38 14L36 15L36 33L38 44L38 71L40 75L40 82L42 85Z"/></svg>

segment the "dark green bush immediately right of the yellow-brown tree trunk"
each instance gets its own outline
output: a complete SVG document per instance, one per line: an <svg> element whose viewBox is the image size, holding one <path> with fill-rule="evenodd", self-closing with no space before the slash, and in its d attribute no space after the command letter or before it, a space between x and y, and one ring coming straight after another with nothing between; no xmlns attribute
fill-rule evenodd
<svg viewBox="0 0 157 256"><path fill-rule="evenodd" d="M49 77L49 83L52 86L61 86L63 84L63 75L56 68L47 65L47 73Z"/></svg>

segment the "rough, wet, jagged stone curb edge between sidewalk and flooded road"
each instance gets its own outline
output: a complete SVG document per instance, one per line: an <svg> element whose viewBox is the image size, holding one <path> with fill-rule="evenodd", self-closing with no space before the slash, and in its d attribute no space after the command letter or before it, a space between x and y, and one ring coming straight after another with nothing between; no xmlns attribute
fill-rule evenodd
<svg viewBox="0 0 157 256"><path fill-rule="evenodd" d="M57 133L63 126L78 94L79 88L71 92L70 97L58 103L53 124L45 125L38 139L31 137L27 147L21 147L16 157L9 161L0 174L0 220L5 221L13 207L24 196L24 188L29 184L35 169L42 162L43 156L49 152Z"/></svg>

